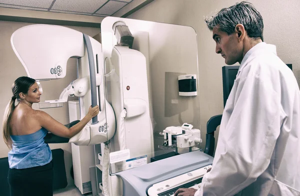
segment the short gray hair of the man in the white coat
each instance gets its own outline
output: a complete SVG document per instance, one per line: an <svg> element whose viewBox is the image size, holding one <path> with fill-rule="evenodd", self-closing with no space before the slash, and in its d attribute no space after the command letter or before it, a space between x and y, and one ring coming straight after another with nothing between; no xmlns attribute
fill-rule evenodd
<svg viewBox="0 0 300 196"><path fill-rule="evenodd" d="M206 18L205 22L210 30L217 26L228 35L234 32L237 24L242 24L249 37L260 37L263 41L263 20L250 2L241 1L223 8L215 16Z"/></svg>

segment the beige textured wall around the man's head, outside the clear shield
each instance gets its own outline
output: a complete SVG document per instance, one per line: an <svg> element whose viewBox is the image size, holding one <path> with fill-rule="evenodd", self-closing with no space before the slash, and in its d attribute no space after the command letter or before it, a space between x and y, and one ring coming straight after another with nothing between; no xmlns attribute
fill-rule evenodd
<svg viewBox="0 0 300 196"><path fill-rule="evenodd" d="M240 0L154 0L128 18L192 26L197 32L201 137L205 140L206 122L223 110L222 73L224 59L215 53L212 33L204 16ZM249 0L264 20L264 41L277 46L277 55L292 63L300 81L299 0ZM184 36L184 35L182 35ZM175 40L174 40L175 41ZM155 74L155 73L152 73ZM216 133L216 137L218 132ZM203 146L203 145L202 145Z"/></svg>

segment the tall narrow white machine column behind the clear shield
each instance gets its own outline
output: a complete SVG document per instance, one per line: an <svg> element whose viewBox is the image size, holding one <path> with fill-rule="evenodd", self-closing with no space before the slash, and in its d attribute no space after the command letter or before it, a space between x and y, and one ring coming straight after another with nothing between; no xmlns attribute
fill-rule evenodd
<svg viewBox="0 0 300 196"><path fill-rule="evenodd" d="M153 152L152 128L145 57L137 50L115 46L111 62L116 75L119 76L112 76L110 79L112 106L116 118L119 118L122 109L126 109L124 119L126 148L130 149L130 158L147 155L147 162L150 162ZM118 134L115 134L113 139L114 141L119 139ZM115 145L114 148L118 150L119 146Z"/></svg>

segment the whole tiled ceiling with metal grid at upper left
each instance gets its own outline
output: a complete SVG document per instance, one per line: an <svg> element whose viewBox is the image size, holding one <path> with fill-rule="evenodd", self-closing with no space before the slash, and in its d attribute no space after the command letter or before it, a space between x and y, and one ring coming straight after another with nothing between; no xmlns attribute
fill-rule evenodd
<svg viewBox="0 0 300 196"><path fill-rule="evenodd" d="M0 0L0 7L110 16L132 0Z"/></svg>

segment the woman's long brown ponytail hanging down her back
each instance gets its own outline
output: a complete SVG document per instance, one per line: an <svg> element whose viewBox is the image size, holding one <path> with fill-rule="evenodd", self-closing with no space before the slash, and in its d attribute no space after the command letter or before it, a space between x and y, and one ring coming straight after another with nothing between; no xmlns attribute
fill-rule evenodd
<svg viewBox="0 0 300 196"><path fill-rule="evenodd" d="M15 101L16 97L12 96L10 101L8 102L5 111L4 111L4 115L3 115L3 122L2 122L2 129L3 129L3 139L5 144L7 145L7 147L9 149L12 148L12 141L10 138L10 127L9 127L9 121L10 121L10 117L12 114L12 111L14 110L14 101Z"/></svg>

